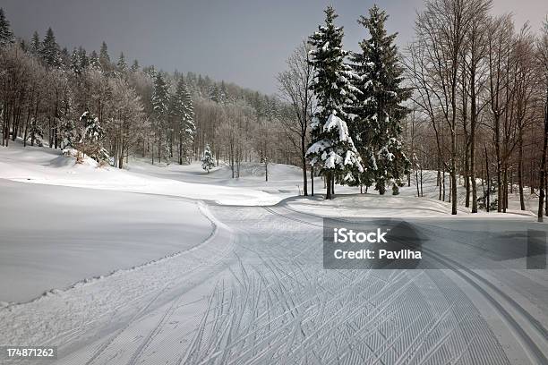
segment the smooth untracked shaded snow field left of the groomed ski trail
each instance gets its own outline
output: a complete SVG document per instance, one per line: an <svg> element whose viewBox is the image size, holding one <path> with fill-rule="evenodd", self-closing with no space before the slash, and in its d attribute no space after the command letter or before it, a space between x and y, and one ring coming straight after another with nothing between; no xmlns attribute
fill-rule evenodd
<svg viewBox="0 0 548 365"><path fill-rule="evenodd" d="M196 202L165 196L0 180L0 200L0 277L13 278L0 301L188 250L212 230Z"/></svg>

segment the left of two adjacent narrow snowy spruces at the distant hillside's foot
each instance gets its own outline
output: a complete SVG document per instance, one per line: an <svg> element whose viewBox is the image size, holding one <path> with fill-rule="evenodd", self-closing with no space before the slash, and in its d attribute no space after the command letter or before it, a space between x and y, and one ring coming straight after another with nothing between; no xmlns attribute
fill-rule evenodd
<svg viewBox="0 0 548 365"><path fill-rule="evenodd" d="M157 72L154 78L154 89L152 92L152 128L156 135L158 143L158 161L161 162L162 157L166 159L166 146L163 139L163 132L166 127L167 113L169 106L169 94L167 91L167 83L164 81L162 72ZM152 149L154 150L154 149ZM169 156L167 154L167 156ZM166 160L166 162L168 162ZM152 163L154 163L154 152L152 152Z"/></svg>

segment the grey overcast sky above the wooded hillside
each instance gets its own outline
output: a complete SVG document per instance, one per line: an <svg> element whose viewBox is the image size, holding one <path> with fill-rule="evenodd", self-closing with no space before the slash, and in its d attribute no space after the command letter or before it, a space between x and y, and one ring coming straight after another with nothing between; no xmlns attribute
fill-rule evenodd
<svg viewBox="0 0 548 365"><path fill-rule="evenodd" d="M155 64L172 72L209 74L220 81L266 93L277 90L275 75L300 39L323 19L333 4L344 45L355 49L364 38L356 23L374 4L370 0L2 0L0 6L18 37L55 31L62 47L89 51L107 42L112 59L121 51L131 62ZM416 11L423 0L377 1L389 14L387 28L398 31L404 46L413 36ZM512 12L518 27L530 21L540 29L546 0L494 0L494 13Z"/></svg>

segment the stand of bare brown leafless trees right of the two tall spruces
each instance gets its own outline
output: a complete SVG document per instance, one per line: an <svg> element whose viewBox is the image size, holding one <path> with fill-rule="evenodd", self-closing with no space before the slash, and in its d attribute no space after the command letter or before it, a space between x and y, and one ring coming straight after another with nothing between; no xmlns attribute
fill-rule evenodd
<svg viewBox="0 0 548 365"><path fill-rule="evenodd" d="M525 210L528 186L539 191L542 219L548 23L540 32L516 29L511 15L491 10L490 0L429 0L418 14L404 60L416 125L410 153L450 175L453 214L462 178L472 212L506 212L515 189ZM438 180L443 199L445 179Z"/></svg>

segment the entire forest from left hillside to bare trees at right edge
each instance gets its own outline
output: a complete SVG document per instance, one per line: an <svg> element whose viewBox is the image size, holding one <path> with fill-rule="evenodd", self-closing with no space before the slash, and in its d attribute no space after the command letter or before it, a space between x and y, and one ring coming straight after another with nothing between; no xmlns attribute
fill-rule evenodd
<svg viewBox="0 0 548 365"><path fill-rule="evenodd" d="M188 164L207 157L239 177L242 162L300 166L303 193L322 176L335 184L390 191L437 172L438 199L506 212L509 195L538 197L548 214L548 21L537 30L489 0L426 0L415 34L397 34L377 6L356 14L359 45L344 47L335 9L273 75L268 96L193 72L112 57L43 36L18 38L0 10L2 146L76 149L123 168L129 157ZM206 167L204 167L206 169ZM464 187L464 199L458 187Z"/></svg>

